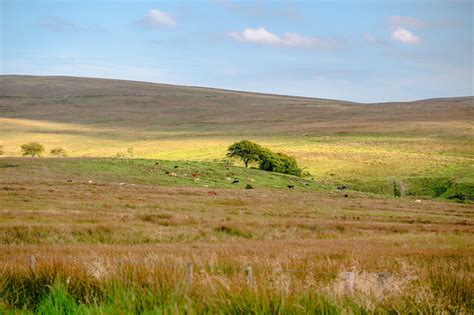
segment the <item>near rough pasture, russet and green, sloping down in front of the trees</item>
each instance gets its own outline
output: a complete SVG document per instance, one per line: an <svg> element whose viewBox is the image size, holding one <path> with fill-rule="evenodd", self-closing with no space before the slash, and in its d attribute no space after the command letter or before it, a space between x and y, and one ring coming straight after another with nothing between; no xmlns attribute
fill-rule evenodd
<svg viewBox="0 0 474 315"><path fill-rule="evenodd" d="M192 172L199 177L184 176ZM247 183L255 189L245 189ZM474 307L469 204L340 192L213 163L4 158L0 205L6 312L468 313ZM250 284L248 266L255 274ZM346 271L356 275L352 295L341 278ZM380 274L387 279L381 282Z"/></svg>

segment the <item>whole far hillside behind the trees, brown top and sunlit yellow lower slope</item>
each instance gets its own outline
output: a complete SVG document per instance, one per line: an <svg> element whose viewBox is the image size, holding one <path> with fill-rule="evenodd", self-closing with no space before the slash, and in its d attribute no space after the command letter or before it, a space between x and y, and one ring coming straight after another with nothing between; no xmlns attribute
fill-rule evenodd
<svg viewBox="0 0 474 315"><path fill-rule="evenodd" d="M164 84L0 77L0 139L7 156L39 141L70 156L220 160L247 138L294 155L318 181L390 193L469 192L474 98L405 103L344 101Z"/></svg>

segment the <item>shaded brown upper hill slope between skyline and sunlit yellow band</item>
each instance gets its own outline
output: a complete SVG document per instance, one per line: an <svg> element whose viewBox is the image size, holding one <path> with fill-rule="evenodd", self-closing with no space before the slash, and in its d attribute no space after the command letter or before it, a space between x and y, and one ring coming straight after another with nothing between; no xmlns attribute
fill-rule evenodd
<svg viewBox="0 0 474 315"><path fill-rule="evenodd" d="M386 133L412 122L465 122L474 117L473 97L368 106L77 77L0 76L0 97L1 117L200 134ZM418 126L417 131L420 127L424 129Z"/></svg>

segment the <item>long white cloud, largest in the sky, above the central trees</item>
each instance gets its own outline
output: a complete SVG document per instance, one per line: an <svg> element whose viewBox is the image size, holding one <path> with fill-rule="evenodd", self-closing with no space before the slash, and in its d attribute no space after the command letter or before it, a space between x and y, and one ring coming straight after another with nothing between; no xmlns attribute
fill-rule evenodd
<svg viewBox="0 0 474 315"><path fill-rule="evenodd" d="M322 40L297 33L284 33L281 36L270 33L263 27L246 28L242 32L230 32L229 37L239 42L283 47L333 49L339 46L335 40Z"/></svg>

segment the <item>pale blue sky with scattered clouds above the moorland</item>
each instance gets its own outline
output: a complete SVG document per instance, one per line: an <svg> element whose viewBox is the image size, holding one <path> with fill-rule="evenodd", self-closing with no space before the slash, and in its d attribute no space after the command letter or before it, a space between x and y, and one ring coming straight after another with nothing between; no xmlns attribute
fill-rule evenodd
<svg viewBox="0 0 474 315"><path fill-rule="evenodd" d="M474 0L0 0L0 73L357 102L474 95Z"/></svg>

